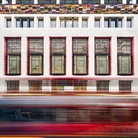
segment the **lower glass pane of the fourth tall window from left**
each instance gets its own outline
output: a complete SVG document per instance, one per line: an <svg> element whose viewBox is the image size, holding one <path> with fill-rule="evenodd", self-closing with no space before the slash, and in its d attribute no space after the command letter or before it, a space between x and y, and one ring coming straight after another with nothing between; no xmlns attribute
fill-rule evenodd
<svg viewBox="0 0 138 138"><path fill-rule="evenodd" d="M87 60L86 56L74 56L74 74L86 74L87 73Z"/></svg>

